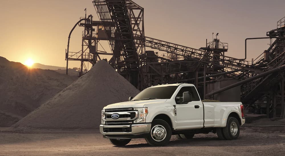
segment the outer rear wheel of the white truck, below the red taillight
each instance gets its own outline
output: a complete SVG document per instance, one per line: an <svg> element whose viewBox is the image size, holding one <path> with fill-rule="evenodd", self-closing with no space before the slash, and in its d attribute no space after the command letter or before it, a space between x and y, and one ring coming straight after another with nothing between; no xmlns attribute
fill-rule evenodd
<svg viewBox="0 0 285 156"><path fill-rule="evenodd" d="M227 140L234 140L239 137L239 121L237 120L237 118L228 118L227 125L223 128L223 133Z"/></svg>

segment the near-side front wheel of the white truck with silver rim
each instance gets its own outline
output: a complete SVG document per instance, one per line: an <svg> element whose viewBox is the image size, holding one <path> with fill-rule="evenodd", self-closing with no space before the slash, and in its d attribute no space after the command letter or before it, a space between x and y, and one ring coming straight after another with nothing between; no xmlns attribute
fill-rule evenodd
<svg viewBox="0 0 285 156"><path fill-rule="evenodd" d="M151 123L151 130L145 140L151 146L165 146L168 144L171 134L171 127L166 121L155 119Z"/></svg>

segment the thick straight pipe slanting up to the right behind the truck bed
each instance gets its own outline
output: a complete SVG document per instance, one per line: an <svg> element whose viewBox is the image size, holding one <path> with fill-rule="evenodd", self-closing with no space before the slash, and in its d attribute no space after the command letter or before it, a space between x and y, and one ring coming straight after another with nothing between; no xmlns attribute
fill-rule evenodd
<svg viewBox="0 0 285 156"><path fill-rule="evenodd" d="M248 79L245 79L245 80L243 80L243 81L239 81L239 82L234 83L234 84L232 84L232 85L229 85L229 86L227 86L227 87L224 87L224 88L218 89L218 90L216 90L216 91L210 92L210 93L206 94L206 96L212 96L212 95L214 95L214 94L223 92L223 91L228 90L228 89L231 89L231 88L233 88L233 87L237 87L237 86L239 86L239 85L243 85L243 84L245 84L245 83L247 83L247 82L249 82L249 81L253 81L253 80L258 79L258 78L260 78L260 77L264 77L264 76L266 76L266 75L269 75L269 74L278 72L278 71L280 71L280 70L282 70L282 69L284 69L284 68L285 68L285 65L282 65L282 66L279 66L279 67L277 67L277 68L274 68L274 69L265 71L265 72L263 72L263 73L260 73L260 74L258 74L258 75L255 75L255 76L250 77L250 78L248 78Z"/></svg>

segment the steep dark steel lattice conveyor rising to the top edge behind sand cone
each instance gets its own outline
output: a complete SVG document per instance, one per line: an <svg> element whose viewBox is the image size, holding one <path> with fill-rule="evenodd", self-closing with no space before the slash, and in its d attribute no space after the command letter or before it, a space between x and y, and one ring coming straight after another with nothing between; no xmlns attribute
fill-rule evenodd
<svg viewBox="0 0 285 156"><path fill-rule="evenodd" d="M139 42L140 39L135 38L133 31L138 31L137 26L140 25L140 20L134 17L134 12L130 11L137 6L132 1L126 0L94 0L93 4L105 31L109 31L105 33L111 33L109 43L112 47L113 57L109 63L137 87L140 61L135 41ZM104 25L105 21L112 21L114 26ZM144 33L139 35L144 35ZM142 45L142 41L140 45ZM142 49L142 47L140 48Z"/></svg>

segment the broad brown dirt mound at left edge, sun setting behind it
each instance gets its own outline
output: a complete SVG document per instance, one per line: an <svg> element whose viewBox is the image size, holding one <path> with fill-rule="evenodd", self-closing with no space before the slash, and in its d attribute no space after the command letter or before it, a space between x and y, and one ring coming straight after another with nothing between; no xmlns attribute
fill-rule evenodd
<svg viewBox="0 0 285 156"><path fill-rule="evenodd" d="M0 57L0 126L13 125L77 78Z"/></svg>

